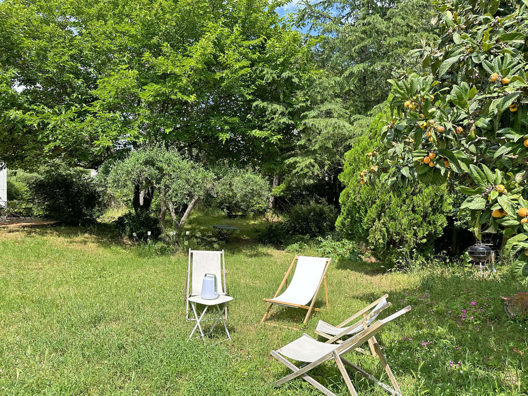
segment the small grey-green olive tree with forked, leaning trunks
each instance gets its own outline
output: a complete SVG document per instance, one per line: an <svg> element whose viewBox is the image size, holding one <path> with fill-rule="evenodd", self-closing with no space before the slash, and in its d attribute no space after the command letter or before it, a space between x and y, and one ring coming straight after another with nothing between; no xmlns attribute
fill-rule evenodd
<svg viewBox="0 0 528 396"><path fill-rule="evenodd" d="M148 211L154 195L160 202L159 225L165 232L167 211L173 225L180 228L196 202L211 188L212 174L174 149L147 146L116 162L108 175L108 188L122 202L133 206L136 214ZM139 205L135 191L149 191Z"/></svg>

